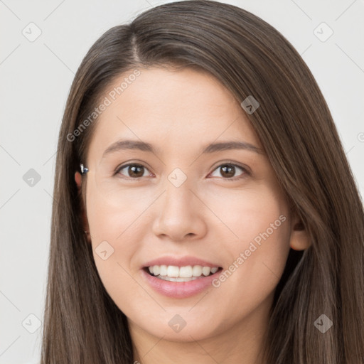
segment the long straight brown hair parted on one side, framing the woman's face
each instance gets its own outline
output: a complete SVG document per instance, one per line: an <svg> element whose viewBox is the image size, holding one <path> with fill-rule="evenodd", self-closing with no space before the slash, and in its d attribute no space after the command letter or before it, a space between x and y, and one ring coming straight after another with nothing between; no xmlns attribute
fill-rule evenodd
<svg viewBox="0 0 364 364"><path fill-rule="evenodd" d="M239 102L255 97L260 106L247 117L311 239L291 250L275 291L267 363L363 364L363 204L328 106L281 33L204 0L156 6L109 29L77 70L58 140L41 363L132 363L126 316L105 291L82 228L85 189L78 193L74 174L97 123L85 127L85 119L115 77L166 65L214 75ZM333 322L325 333L314 324L322 314Z"/></svg>

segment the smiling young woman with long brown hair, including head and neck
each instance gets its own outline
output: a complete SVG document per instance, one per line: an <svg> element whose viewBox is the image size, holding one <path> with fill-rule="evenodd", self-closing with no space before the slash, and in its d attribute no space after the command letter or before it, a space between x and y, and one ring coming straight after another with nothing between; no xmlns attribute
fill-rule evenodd
<svg viewBox="0 0 364 364"><path fill-rule="evenodd" d="M82 60L58 141L42 363L363 363L358 190L299 54L228 4Z"/></svg>

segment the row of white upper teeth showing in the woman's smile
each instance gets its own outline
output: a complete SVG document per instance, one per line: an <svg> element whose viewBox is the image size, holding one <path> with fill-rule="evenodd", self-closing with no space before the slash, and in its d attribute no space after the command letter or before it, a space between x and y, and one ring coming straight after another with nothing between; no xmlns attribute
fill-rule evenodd
<svg viewBox="0 0 364 364"><path fill-rule="evenodd" d="M171 282L188 282L201 276L218 272L218 267L202 267L200 265L187 265L186 267L176 267L175 265L154 265L148 267L149 272L154 276Z"/></svg>

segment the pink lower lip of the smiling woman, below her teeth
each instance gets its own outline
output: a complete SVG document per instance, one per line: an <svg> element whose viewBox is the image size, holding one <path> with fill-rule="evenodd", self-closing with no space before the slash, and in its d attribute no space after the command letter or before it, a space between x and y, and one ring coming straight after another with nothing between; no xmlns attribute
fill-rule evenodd
<svg viewBox="0 0 364 364"><path fill-rule="evenodd" d="M207 287L212 285L213 279L218 277L221 272L221 268L218 272L211 274L207 277L193 279L189 282L170 282L164 279L159 279L151 274L147 273L144 269L141 269L142 275L146 282L155 289L159 294L168 296L175 299L184 299L191 297L195 294L199 294L204 291Z"/></svg>

